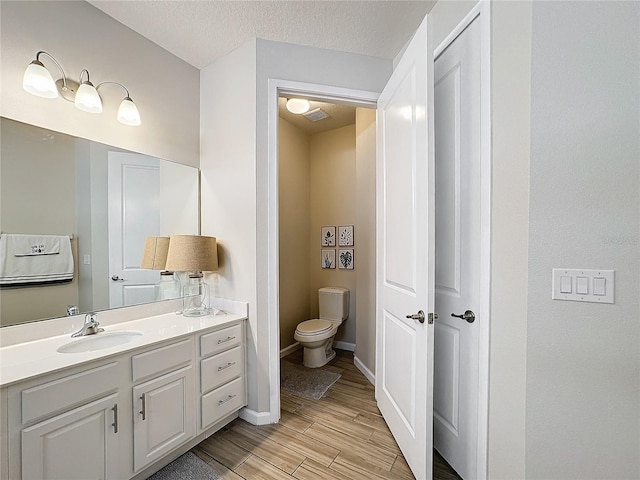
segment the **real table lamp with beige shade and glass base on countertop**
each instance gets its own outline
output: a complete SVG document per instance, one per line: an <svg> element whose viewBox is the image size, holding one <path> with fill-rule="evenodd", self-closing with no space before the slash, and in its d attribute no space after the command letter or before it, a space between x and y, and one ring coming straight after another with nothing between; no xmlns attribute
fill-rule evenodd
<svg viewBox="0 0 640 480"><path fill-rule="evenodd" d="M218 251L215 237L203 235L173 235L165 264L167 270L188 272L182 287L182 314L187 317L209 315L209 285L202 272L218 269Z"/></svg>

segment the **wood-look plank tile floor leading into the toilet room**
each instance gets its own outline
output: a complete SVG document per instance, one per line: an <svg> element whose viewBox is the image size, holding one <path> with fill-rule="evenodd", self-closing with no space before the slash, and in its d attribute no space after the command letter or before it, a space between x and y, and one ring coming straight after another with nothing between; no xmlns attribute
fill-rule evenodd
<svg viewBox="0 0 640 480"><path fill-rule="evenodd" d="M373 386L352 353L337 353L322 368L342 376L322 399L281 390L280 423L257 427L237 419L192 452L224 479L413 479L376 407ZM302 351L286 359L302 363ZM434 478L460 477L434 452Z"/></svg>

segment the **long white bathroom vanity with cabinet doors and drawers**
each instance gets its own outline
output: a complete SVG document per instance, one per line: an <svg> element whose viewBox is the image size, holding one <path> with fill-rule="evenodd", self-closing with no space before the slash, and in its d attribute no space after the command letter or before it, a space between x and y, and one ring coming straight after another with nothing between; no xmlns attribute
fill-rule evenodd
<svg viewBox="0 0 640 480"><path fill-rule="evenodd" d="M236 418L246 405L245 318L179 320L156 320L156 335L140 326L153 341L102 358L64 364L78 357L46 353L54 372L5 383L0 480L147 478Z"/></svg>

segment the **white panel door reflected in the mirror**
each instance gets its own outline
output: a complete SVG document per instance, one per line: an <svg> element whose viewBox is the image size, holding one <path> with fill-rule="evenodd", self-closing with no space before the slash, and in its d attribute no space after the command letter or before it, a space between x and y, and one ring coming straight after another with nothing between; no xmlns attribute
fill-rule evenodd
<svg viewBox="0 0 640 480"><path fill-rule="evenodd" d="M160 163L109 152L109 306L153 302L160 272L140 268L144 241L160 231Z"/></svg>

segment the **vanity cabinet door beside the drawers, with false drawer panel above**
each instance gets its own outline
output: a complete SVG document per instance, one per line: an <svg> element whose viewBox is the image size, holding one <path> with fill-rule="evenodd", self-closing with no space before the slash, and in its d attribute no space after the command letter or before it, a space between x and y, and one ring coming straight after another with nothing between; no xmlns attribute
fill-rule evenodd
<svg viewBox="0 0 640 480"><path fill-rule="evenodd" d="M193 338L133 355L133 466L138 472L196 433ZM166 373L169 372L169 373Z"/></svg>

